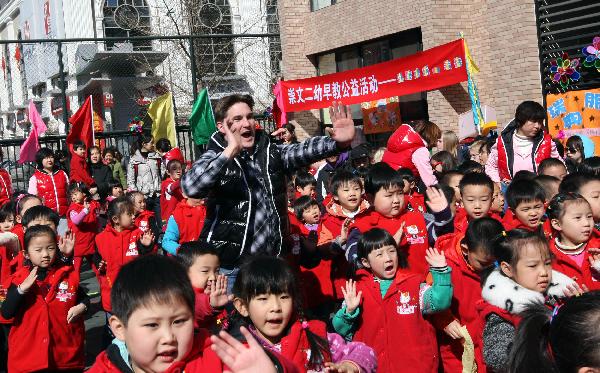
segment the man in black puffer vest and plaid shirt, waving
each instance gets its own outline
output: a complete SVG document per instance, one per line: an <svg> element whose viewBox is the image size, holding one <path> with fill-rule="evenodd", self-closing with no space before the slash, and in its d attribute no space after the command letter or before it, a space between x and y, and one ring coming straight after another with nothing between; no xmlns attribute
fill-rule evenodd
<svg viewBox="0 0 600 373"><path fill-rule="evenodd" d="M354 138L350 108L334 103L330 137L277 145L271 136L282 129L271 136L257 130L253 106L247 95L227 96L217 103L218 131L181 180L187 196L207 199L200 239L219 250L230 285L243 257L279 255L288 241L285 172L346 150Z"/></svg>

